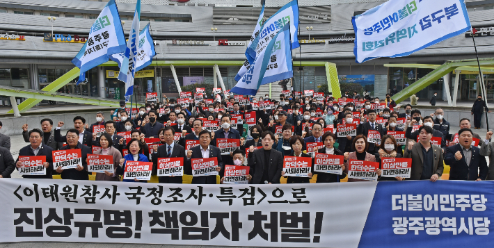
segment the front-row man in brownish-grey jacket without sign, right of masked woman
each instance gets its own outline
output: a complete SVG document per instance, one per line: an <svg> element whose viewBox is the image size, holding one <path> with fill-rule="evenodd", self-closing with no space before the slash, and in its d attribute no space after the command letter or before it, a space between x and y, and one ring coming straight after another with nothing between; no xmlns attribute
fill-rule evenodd
<svg viewBox="0 0 494 248"><path fill-rule="evenodd" d="M411 180L437 181L443 174L443 151L431 144L432 131L430 126L421 126L418 130L419 142L408 142L404 158L412 159Z"/></svg>

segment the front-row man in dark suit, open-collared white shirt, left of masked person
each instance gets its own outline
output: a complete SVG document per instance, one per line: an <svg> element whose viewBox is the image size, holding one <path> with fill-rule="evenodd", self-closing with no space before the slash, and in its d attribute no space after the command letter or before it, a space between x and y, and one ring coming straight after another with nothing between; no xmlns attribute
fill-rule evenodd
<svg viewBox="0 0 494 248"><path fill-rule="evenodd" d="M221 159L220 149L210 145L211 133L207 130L202 130L199 133L199 140L200 145L187 151L184 174L192 174L193 158L218 158L218 166L216 167L216 171L219 172L220 178L222 178L225 172L225 165ZM216 184L216 176L193 176L192 184Z"/></svg>

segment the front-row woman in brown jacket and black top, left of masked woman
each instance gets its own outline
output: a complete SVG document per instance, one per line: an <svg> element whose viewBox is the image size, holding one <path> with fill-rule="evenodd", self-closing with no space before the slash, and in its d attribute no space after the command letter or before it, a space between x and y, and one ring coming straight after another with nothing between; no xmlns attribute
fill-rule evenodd
<svg viewBox="0 0 494 248"><path fill-rule="evenodd" d="M349 160L362 160L362 161L369 161L369 162L376 162L376 156L374 154L369 154L367 152L367 148L369 147L369 143L367 142L366 136L360 134L357 135L356 138L353 140L352 147L355 148L355 151L348 153L345 152L343 154L344 156L344 164L345 164L345 170L344 172L348 174L348 169L349 169ZM381 169L376 169L376 173L379 177L381 177ZM362 180L362 179L348 179L349 182L357 182L357 181L367 181L367 180Z"/></svg>

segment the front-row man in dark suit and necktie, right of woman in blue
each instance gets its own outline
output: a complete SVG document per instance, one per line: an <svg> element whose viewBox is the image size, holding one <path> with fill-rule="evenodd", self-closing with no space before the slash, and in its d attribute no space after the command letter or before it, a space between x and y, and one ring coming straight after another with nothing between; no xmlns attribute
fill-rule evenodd
<svg viewBox="0 0 494 248"><path fill-rule="evenodd" d="M158 167L158 158L185 158L184 147L180 144L175 144L173 141L175 130L167 126L161 132L163 133L166 144L159 146L158 151L152 154L152 163L156 168ZM182 183L182 176L159 176L159 183Z"/></svg>

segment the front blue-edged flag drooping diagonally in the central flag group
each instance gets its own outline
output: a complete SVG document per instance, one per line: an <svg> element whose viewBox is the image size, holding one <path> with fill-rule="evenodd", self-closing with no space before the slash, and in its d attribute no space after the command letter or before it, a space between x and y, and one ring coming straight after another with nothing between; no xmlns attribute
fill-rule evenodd
<svg viewBox="0 0 494 248"><path fill-rule="evenodd" d="M251 96L257 94L257 90L259 90L264 75L266 74L266 68L271 61L271 51L276 46L278 36L285 35L285 32L289 33L289 30L289 24L287 24L273 37L273 39L271 39L271 42L267 44L266 49L263 49L253 63L250 64L246 74L242 76L241 81L230 90L231 93Z"/></svg>

